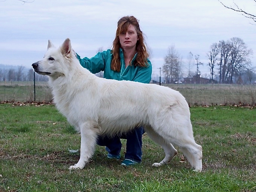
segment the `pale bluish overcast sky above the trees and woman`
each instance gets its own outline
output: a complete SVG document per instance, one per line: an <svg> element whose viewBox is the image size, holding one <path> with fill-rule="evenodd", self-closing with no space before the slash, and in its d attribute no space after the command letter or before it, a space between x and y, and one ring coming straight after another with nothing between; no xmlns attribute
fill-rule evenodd
<svg viewBox="0 0 256 192"><path fill-rule="evenodd" d="M221 2L233 6L233 0ZM256 14L253 0L234 2ZM170 46L183 58L184 71L192 52L204 64L201 74L209 74L210 45L232 37L241 38L253 50L251 61L256 67L256 25L218 0L0 0L0 64L30 67L42 59L48 39L59 46L70 38L73 49L90 58L101 47L111 48L117 21L126 15L140 21L153 74L163 66Z"/></svg>

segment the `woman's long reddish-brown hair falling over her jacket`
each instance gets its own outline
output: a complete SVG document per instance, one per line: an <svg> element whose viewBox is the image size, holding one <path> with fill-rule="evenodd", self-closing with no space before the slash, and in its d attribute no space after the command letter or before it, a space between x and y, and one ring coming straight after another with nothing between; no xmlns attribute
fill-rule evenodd
<svg viewBox="0 0 256 192"><path fill-rule="evenodd" d="M121 63L120 63L120 55L119 55L119 50L121 48L121 44L119 41L119 35L122 34L123 32L126 33L130 25L133 25L139 40L137 40L136 43L136 52L137 56L134 61L134 66L140 66L140 67L146 67L148 66L148 57L149 54L146 50L146 43L144 41L143 33L140 30L139 26L139 21L133 17L133 16L125 16L120 18L120 20L117 22L117 29L116 29L116 37L113 41L113 59L111 61L111 69L114 71L119 72L121 68Z"/></svg>

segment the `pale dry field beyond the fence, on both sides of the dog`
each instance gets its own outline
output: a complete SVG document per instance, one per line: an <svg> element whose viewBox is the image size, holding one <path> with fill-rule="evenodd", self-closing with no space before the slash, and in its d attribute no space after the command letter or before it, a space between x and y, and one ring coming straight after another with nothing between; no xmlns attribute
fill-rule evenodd
<svg viewBox="0 0 256 192"><path fill-rule="evenodd" d="M180 91L192 105L256 104L255 85L168 84ZM36 101L50 102L52 94L47 82L36 82ZM0 82L0 101L34 101L33 82Z"/></svg>

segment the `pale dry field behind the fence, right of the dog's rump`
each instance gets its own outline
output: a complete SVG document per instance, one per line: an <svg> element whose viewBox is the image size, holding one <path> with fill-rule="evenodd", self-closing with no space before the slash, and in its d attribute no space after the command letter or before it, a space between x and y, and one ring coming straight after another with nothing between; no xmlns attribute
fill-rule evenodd
<svg viewBox="0 0 256 192"><path fill-rule="evenodd" d="M187 102L192 105L248 104L256 103L255 85L237 84L169 84L180 91Z"/></svg>

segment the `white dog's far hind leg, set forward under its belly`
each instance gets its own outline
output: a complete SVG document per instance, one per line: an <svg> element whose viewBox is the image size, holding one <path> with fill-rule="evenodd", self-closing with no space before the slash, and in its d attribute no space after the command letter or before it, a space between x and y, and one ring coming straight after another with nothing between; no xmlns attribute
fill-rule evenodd
<svg viewBox="0 0 256 192"><path fill-rule="evenodd" d="M158 167L169 163L177 154L177 150L174 148L174 146L152 129L146 130L146 133L155 143L161 145L165 151L165 158L163 158L160 163L154 163L152 166Z"/></svg>

